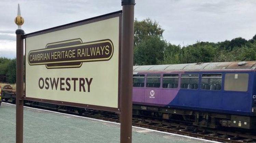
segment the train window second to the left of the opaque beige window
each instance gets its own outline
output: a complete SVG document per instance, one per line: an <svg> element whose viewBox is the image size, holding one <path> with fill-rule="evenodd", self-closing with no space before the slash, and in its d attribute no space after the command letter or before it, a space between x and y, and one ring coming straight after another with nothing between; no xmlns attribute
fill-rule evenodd
<svg viewBox="0 0 256 143"><path fill-rule="evenodd" d="M181 74L180 88L198 89L199 74Z"/></svg>

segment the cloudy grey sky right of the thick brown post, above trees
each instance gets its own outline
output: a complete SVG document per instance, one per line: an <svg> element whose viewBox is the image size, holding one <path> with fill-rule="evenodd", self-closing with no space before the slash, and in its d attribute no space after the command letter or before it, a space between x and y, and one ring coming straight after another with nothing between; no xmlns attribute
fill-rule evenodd
<svg viewBox="0 0 256 143"><path fill-rule="evenodd" d="M174 44L251 39L256 34L255 0L142 0L136 6L135 17L157 20L165 29L164 38Z"/></svg>

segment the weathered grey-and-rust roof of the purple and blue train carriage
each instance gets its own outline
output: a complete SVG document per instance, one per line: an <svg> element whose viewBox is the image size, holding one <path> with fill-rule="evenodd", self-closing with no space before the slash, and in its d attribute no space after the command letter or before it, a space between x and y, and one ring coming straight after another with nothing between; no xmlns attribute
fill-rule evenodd
<svg viewBox="0 0 256 143"><path fill-rule="evenodd" d="M133 66L133 71L176 71L176 70L255 70L256 61L200 62L173 65Z"/></svg>

